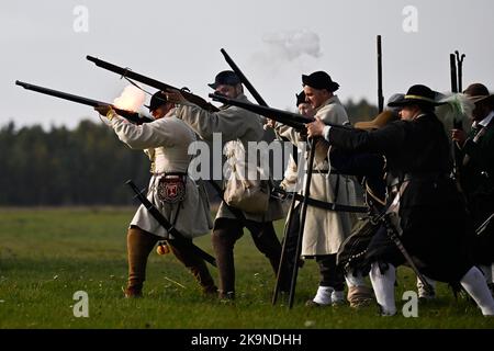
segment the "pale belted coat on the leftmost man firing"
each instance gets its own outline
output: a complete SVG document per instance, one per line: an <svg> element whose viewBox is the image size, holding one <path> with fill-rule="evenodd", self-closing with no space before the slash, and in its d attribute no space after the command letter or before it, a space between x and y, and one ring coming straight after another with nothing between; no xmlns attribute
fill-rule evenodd
<svg viewBox="0 0 494 351"><path fill-rule="evenodd" d="M119 138L133 149L145 149L153 162L154 176L150 179L147 199L159 212L173 223L181 206L175 227L188 238L205 235L213 227L207 194L202 184L190 177L187 180L186 199L179 204L165 204L158 200L157 184L164 172L187 172L191 160L189 145L195 140L194 133L172 115L143 125L133 125L122 117L112 118L112 127ZM141 205L131 225L154 235L168 238L167 230Z"/></svg>

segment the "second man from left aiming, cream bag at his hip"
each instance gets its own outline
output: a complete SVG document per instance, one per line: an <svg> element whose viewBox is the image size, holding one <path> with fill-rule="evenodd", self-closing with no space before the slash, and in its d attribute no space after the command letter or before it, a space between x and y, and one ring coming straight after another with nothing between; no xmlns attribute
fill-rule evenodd
<svg viewBox="0 0 494 351"><path fill-rule="evenodd" d="M209 86L216 94L248 103L242 81L233 71L220 72ZM234 246L243 236L244 227L249 229L259 251L269 259L274 274L280 264L281 245L272 220L282 217L281 204L278 200L269 199L269 183L259 179L258 165L248 163L248 143L259 141L263 136L261 118L255 113L231 105L224 105L216 112L204 109L192 103L178 90L167 90L166 94L170 102L179 105L177 116L202 139L212 140L214 133L221 133L226 143L224 149L231 166L231 177L225 182L225 196L216 215L212 239L220 271L220 298L233 299ZM249 170L255 170L254 174ZM251 196L250 192L243 191L243 182L252 185L249 186L255 190L251 193L259 196ZM284 274L282 290L288 291L288 274Z"/></svg>

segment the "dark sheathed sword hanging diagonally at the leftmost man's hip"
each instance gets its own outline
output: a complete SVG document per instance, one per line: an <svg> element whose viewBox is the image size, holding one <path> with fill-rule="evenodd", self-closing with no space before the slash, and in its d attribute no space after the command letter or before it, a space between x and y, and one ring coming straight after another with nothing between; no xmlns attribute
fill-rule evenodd
<svg viewBox="0 0 494 351"><path fill-rule="evenodd" d="M195 254L201 257L204 261L209 262L211 265L216 267L216 259L203 251L201 248L197 247L192 244L191 240L187 239L180 231L175 228L167 218L156 208L155 205L151 204L149 200L141 192L141 190L134 184L132 180L126 182L128 186L134 191L135 197L141 201L141 203L146 207L149 214L165 228L168 234L173 236L173 239L167 240L171 246L177 248L188 248L191 249Z"/></svg>

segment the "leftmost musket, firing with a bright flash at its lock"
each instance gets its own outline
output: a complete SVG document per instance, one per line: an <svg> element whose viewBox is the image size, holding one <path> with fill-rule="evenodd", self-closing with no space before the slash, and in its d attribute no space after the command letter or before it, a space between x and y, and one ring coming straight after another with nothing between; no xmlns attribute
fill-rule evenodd
<svg viewBox="0 0 494 351"><path fill-rule="evenodd" d="M26 83L26 82L19 81L19 80L15 81L15 84L20 86L20 87L22 87L24 89L42 93L42 94L55 97L55 98L63 99L63 100L68 100L68 101L71 101L71 102L77 102L77 103L80 103L80 104L83 104L83 105L88 105L88 106L92 106L92 107L110 105L116 112L116 114L119 114L120 116L122 116L122 117L126 118L127 121L130 121L132 123L135 123L135 124L150 123L150 122L154 121L154 120L148 118L146 116L141 116L137 112L119 109L119 107L114 106L111 103L106 103L106 102L102 102L102 101L98 101L98 100L92 100L92 99L88 99L88 98L83 98L83 97L79 97L79 95L69 94L69 93L66 93L66 92L63 92L63 91L53 90L53 89L48 89L48 88L44 88L44 87L40 87L40 86L34 86L34 84Z"/></svg>

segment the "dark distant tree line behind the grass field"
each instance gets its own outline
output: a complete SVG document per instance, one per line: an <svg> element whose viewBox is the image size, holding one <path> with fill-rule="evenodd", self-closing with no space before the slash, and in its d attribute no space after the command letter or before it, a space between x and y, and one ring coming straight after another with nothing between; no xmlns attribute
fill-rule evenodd
<svg viewBox="0 0 494 351"><path fill-rule="evenodd" d="M375 115L364 100L349 101L355 123ZM133 179L145 186L149 160L123 145L99 121L85 120L75 129L38 125L0 127L0 206L133 205L124 185Z"/></svg>

